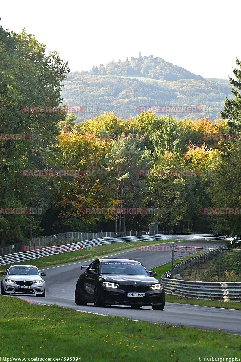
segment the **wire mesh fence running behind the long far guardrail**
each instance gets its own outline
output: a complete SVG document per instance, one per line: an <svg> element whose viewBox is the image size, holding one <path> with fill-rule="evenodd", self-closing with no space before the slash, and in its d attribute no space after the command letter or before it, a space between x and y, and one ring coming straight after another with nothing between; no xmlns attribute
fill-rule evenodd
<svg viewBox="0 0 241 362"><path fill-rule="evenodd" d="M125 232L63 232L50 236L40 236L34 240L29 240L23 243L8 245L5 248L0 248L0 256L14 253L25 252L34 250L36 248L45 248L53 245L66 245L72 244L76 241L94 240L100 237L120 237L120 236L144 236L149 235L148 231L125 231ZM173 232L163 231L159 235L175 235L174 239L178 239L178 235L208 235L214 236L217 239L225 238L223 235L212 235L212 234L196 234L194 232Z"/></svg>

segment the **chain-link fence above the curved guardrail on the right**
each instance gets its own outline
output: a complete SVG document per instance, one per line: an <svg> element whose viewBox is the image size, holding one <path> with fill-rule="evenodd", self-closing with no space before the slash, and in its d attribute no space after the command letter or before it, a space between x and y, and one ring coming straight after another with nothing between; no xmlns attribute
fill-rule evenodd
<svg viewBox="0 0 241 362"><path fill-rule="evenodd" d="M169 277L189 281L241 281L241 249L170 244L172 269Z"/></svg>

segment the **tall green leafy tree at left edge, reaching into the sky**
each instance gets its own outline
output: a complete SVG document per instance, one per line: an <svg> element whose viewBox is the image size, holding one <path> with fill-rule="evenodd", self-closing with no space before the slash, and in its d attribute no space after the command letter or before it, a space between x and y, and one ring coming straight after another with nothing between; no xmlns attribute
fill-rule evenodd
<svg viewBox="0 0 241 362"><path fill-rule="evenodd" d="M23 181L19 172L28 164L33 150L48 147L57 134L57 123L63 117L57 113L24 112L28 106L58 106L61 82L69 72L67 63L57 51L46 55L46 47L33 35L22 30L20 34L8 33L0 27L0 133L38 134L31 139L1 140L1 193L3 207L26 207L38 204L34 180ZM41 206L41 205L39 205ZM15 220L13 222L13 220ZM19 225L16 229L14 225ZM31 218L23 215L1 215L1 246L12 239L14 230L21 239L27 233Z"/></svg>

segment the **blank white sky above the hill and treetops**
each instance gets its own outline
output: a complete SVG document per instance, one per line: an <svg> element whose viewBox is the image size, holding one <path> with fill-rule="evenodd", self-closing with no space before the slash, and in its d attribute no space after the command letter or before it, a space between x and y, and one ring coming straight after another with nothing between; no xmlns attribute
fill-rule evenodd
<svg viewBox="0 0 241 362"><path fill-rule="evenodd" d="M239 0L4 1L0 24L59 50L71 71L153 54L203 77L241 59Z"/></svg>

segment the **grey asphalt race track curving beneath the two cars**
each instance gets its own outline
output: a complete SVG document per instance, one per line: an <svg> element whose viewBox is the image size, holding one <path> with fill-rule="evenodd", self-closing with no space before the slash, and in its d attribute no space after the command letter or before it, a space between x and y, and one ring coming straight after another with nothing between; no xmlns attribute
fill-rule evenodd
<svg viewBox="0 0 241 362"><path fill-rule="evenodd" d="M178 245L199 245L214 247L214 245L225 245L217 241L182 241ZM162 244L168 245L168 244ZM115 258L126 258L140 261L147 270L163 265L171 261L171 252L140 252L138 250L115 254ZM41 304L57 304L59 306L74 308L78 311L98 313L104 315L116 315L128 317L133 320L145 320L153 323L166 323L172 325L185 325L200 329L221 329L223 332L241 335L241 310L225 308L212 308L193 306L188 304L166 303L162 311L154 311L151 307L142 307L134 310L129 306L110 306L106 308L94 307L94 304L77 306L74 302L74 290L82 265L89 265L88 262L78 262L49 269L46 272L46 297L21 296L31 302Z"/></svg>

